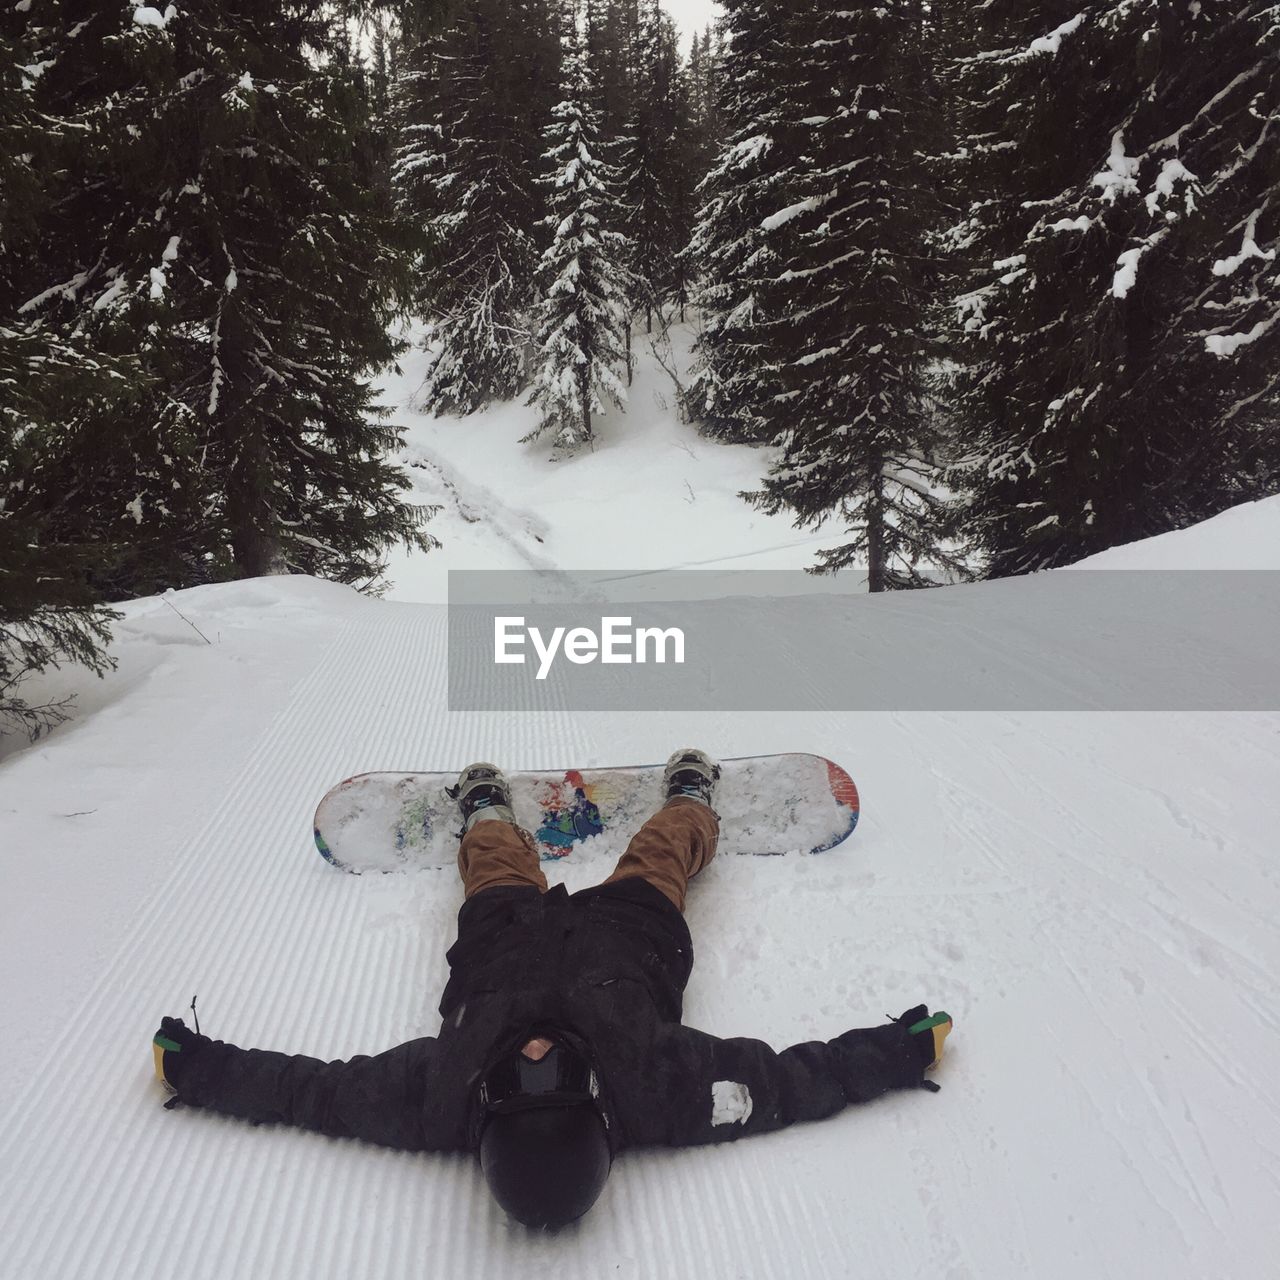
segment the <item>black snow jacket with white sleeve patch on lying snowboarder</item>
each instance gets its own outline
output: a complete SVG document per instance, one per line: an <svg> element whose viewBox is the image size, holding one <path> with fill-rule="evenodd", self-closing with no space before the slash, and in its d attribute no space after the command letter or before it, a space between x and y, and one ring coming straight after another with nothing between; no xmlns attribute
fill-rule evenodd
<svg viewBox="0 0 1280 1280"><path fill-rule="evenodd" d="M186 1065L182 1101L407 1151L475 1151L489 1066L556 1032L594 1061L617 1152L768 1133L923 1083L902 1023L781 1053L682 1027L689 928L643 879L572 896L488 890L458 913L448 961L438 1036L346 1062L214 1041Z"/></svg>

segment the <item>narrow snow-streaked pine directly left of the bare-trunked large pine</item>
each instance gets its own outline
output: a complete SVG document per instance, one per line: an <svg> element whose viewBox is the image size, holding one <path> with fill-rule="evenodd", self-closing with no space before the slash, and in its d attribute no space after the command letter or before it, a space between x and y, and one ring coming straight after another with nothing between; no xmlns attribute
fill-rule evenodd
<svg viewBox="0 0 1280 1280"><path fill-rule="evenodd" d="M773 361L760 329L760 296L778 270L764 220L782 206L782 175L792 164L777 138L778 86L787 73L786 44L778 36L794 6L787 0L727 0L723 8L727 47L719 84L727 141L703 182L686 251L699 278L694 302L703 323L686 410L709 435L764 440L769 430L760 406L776 388L762 372Z"/></svg>

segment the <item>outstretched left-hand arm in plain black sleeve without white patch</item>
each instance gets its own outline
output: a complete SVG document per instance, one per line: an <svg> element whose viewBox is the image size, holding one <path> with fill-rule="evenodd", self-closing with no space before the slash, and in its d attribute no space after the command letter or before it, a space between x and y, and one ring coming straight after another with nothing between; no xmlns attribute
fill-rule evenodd
<svg viewBox="0 0 1280 1280"><path fill-rule="evenodd" d="M156 1034L156 1074L182 1102L256 1124L314 1129L403 1151L435 1149L424 1102L436 1041L410 1041L346 1062L244 1050L197 1036L166 1018Z"/></svg>

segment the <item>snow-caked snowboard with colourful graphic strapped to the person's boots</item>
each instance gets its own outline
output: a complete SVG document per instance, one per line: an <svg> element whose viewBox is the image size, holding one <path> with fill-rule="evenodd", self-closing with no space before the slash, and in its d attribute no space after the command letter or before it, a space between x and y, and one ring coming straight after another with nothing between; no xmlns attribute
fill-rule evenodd
<svg viewBox="0 0 1280 1280"><path fill-rule="evenodd" d="M721 760L714 805L719 849L735 854L818 854L858 826L854 780L820 755ZM575 850L621 856L663 803L662 764L508 773L516 820L543 859ZM334 867L356 874L453 865L462 819L449 773L360 773L316 809L315 838Z"/></svg>

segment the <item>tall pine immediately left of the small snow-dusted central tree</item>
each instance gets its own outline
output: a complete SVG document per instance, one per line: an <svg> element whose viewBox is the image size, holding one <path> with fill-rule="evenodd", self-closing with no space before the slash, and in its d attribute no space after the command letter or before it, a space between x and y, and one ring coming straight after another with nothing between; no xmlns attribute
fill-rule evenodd
<svg viewBox="0 0 1280 1280"><path fill-rule="evenodd" d="M417 50L426 61L404 68L411 105L396 173L429 241L415 291L434 352L424 403L472 413L527 379L556 23L547 0L460 0L439 38Z"/></svg>

